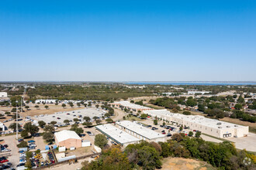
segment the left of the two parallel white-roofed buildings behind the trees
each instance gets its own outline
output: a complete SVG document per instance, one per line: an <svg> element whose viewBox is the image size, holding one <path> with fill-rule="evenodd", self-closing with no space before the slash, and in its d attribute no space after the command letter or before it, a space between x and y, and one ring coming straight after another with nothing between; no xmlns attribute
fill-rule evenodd
<svg viewBox="0 0 256 170"><path fill-rule="evenodd" d="M116 141L117 144L122 145L124 148L127 145L134 144L140 141L140 139L135 138L133 135L128 134L125 131L122 131L119 128L116 128L112 124L102 124L95 126L95 128L105 134L108 138L111 138L112 141Z"/></svg>

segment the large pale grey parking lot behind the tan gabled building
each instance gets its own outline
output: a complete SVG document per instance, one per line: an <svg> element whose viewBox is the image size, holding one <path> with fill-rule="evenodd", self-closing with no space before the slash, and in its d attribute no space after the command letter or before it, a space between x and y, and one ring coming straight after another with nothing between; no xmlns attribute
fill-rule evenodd
<svg viewBox="0 0 256 170"><path fill-rule="evenodd" d="M64 112L57 112L55 114L47 114L43 115L42 117L36 116L32 117L33 120L36 121L44 121L46 123L50 123L51 121L57 121L63 123L64 120L73 121L74 118L81 119L83 121L83 117L102 117L106 114L106 110L97 109L97 108L85 108L81 110L73 110L73 111L64 111ZM81 115L81 117L78 117ZM59 118L59 119L58 119Z"/></svg>

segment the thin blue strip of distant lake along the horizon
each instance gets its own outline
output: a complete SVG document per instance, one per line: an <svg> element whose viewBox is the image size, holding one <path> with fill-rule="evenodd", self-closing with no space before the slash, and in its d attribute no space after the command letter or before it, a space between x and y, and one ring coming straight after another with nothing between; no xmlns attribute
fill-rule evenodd
<svg viewBox="0 0 256 170"><path fill-rule="evenodd" d="M212 82L212 81L168 81L168 82L125 82L126 84L161 84L161 85L205 85L205 86L215 86L215 85L256 85L256 82Z"/></svg>

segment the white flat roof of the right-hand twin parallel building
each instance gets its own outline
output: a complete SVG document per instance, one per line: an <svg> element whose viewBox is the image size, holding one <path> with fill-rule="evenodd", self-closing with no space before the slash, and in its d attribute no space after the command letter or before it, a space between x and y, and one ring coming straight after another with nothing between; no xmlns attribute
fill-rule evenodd
<svg viewBox="0 0 256 170"><path fill-rule="evenodd" d="M144 138L147 139L154 139L154 138L164 138L164 134L157 133L156 131L152 131L148 128L143 127L140 124L137 124L132 121L119 121L116 122L116 124L119 124L120 126L123 126L126 129L129 129L130 131L134 131L137 134L140 134Z"/></svg>

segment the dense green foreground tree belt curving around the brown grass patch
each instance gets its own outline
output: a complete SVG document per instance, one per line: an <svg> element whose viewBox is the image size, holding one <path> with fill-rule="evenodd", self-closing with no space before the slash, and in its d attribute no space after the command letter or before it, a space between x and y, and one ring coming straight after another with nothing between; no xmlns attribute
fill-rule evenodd
<svg viewBox="0 0 256 170"><path fill-rule="evenodd" d="M99 136L98 136L99 135ZM106 146L106 137L102 134L95 136L95 143L101 148ZM104 141L104 142L101 142ZM119 146L103 149L102 156L95 162L83 162L87 169L155 169L161 168L162 158L183 157L196 158L208 162L220 169L253 169L256 156L247 151L237 151L228 141L216 144L204 141L202 138L174 134L167 142L140 141L139 144L128 145L124 151ZM249 160L244 162L244 160Z"/></svg>

